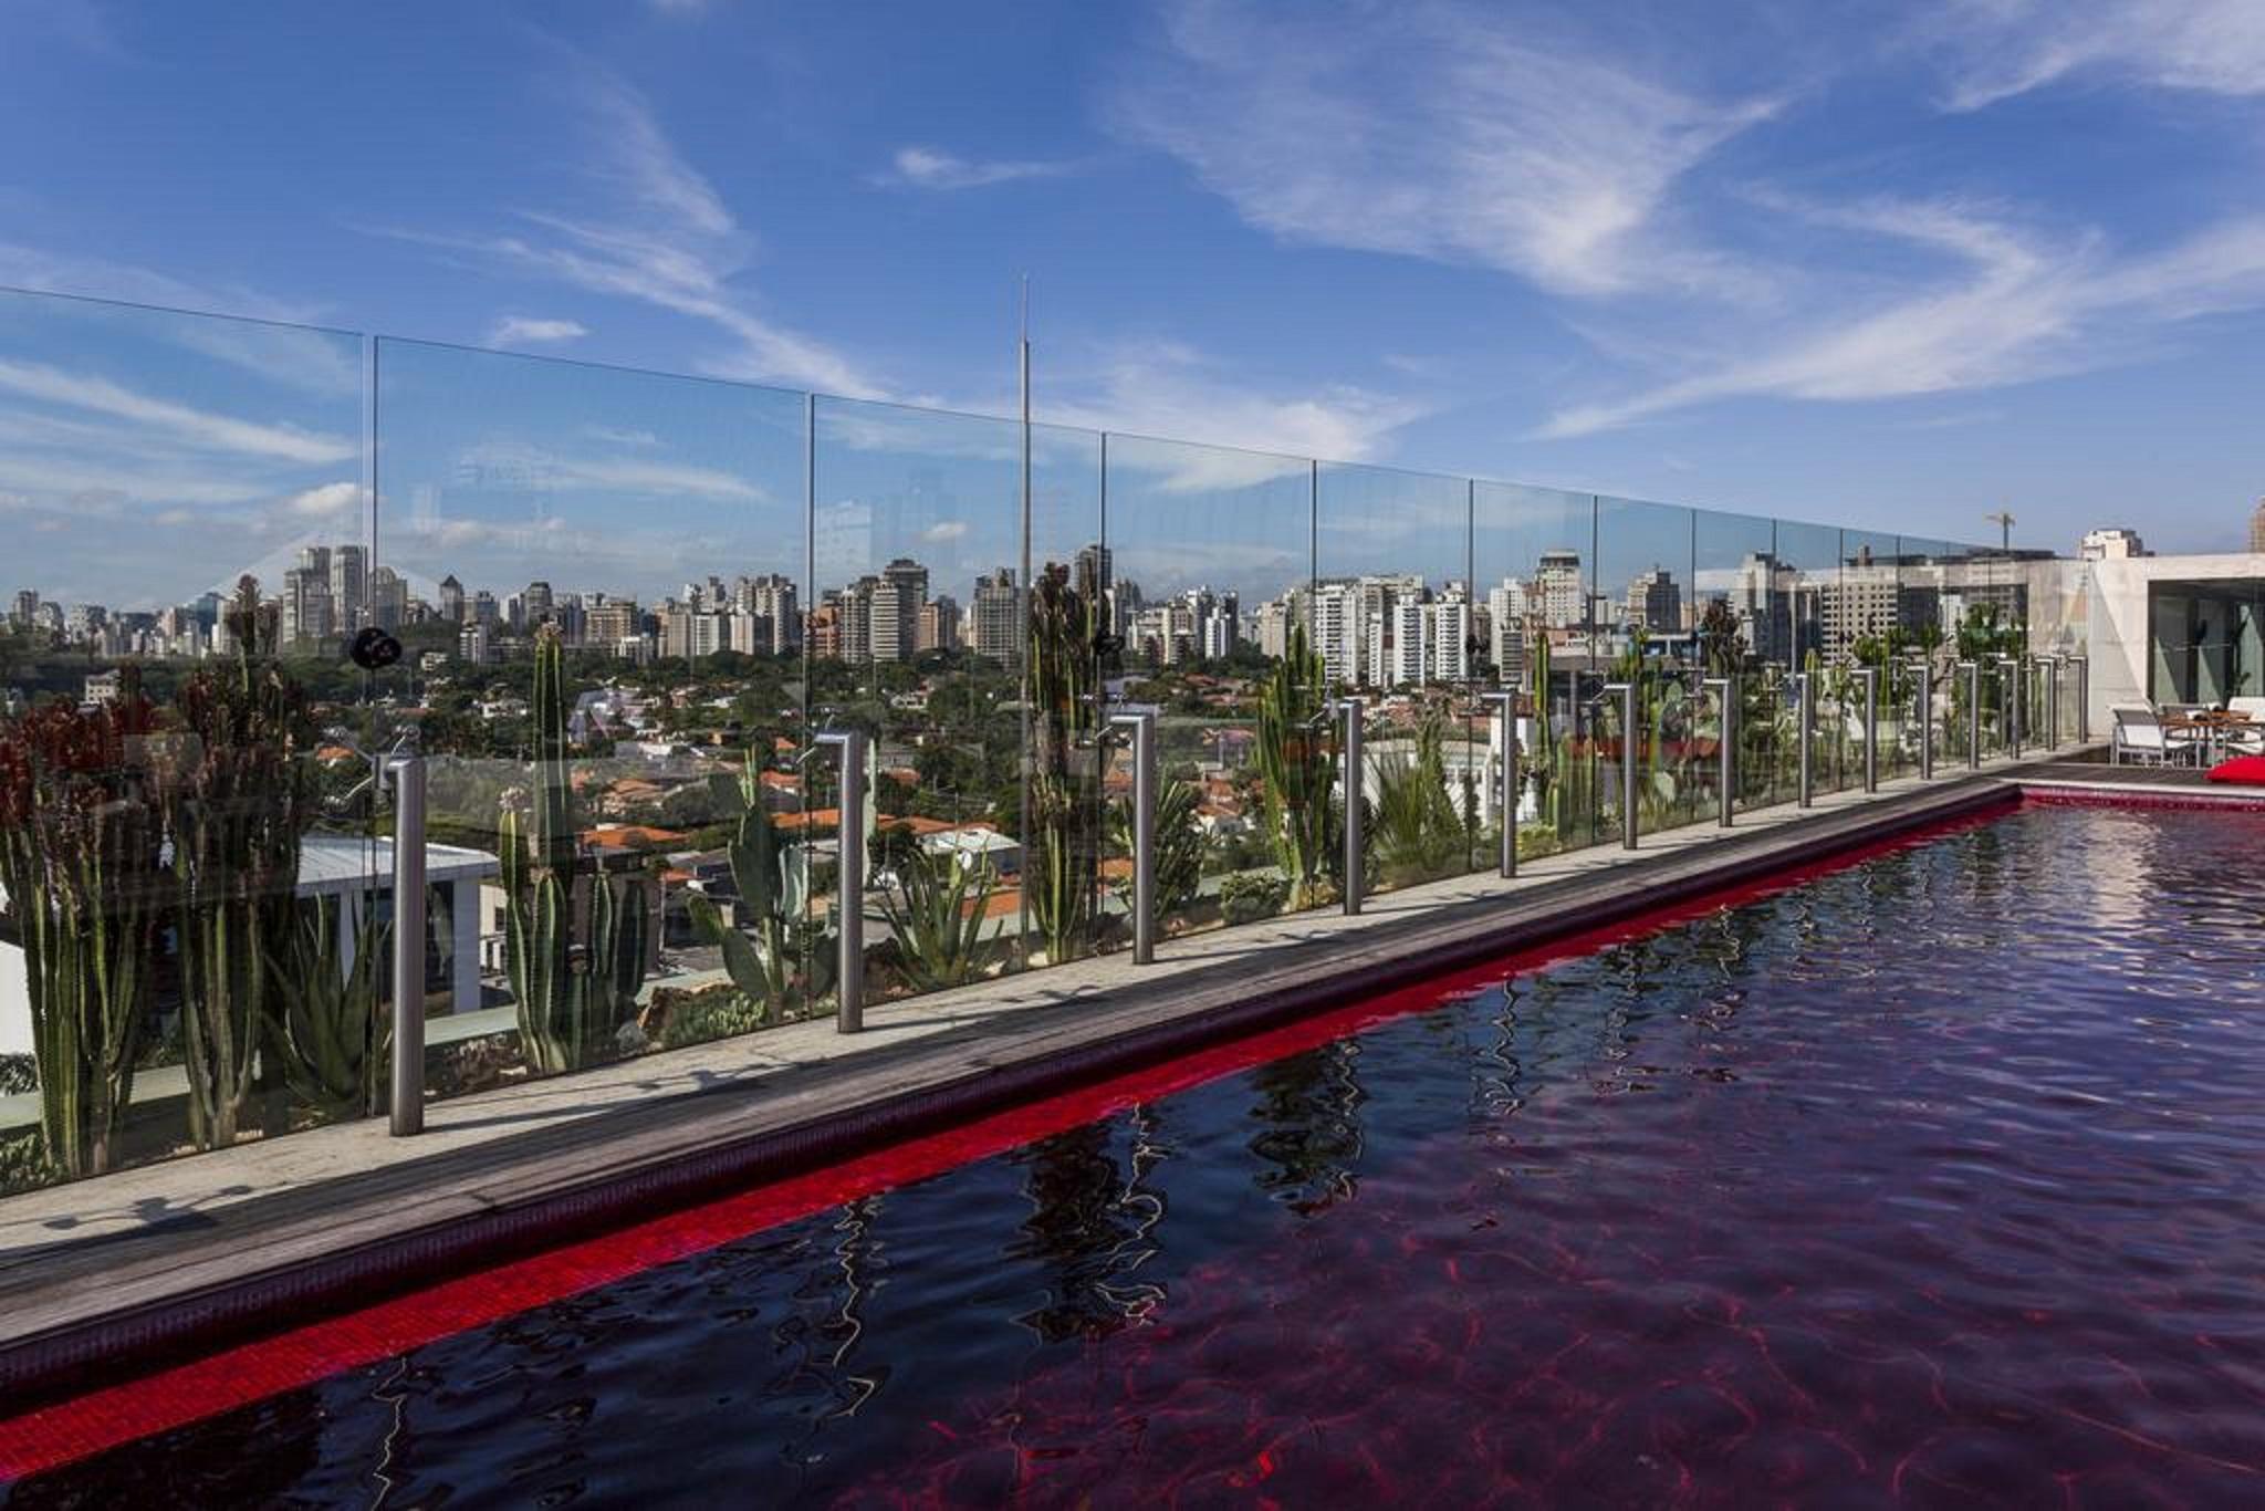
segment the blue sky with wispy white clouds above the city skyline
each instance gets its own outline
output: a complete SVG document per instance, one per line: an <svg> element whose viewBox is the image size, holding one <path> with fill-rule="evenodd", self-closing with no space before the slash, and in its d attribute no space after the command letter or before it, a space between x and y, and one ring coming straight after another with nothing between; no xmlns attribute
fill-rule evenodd
<svg viewBox="0 0 2265 1511"><path fill-rule="evenodd" d="M1040 415L1071 426L1943 537L2011 507L2025 544L2131 523L2226 548L2265 492L2260 102L2256 0L18 0L0 283L999 415L1028 272ZM238 507L256 532L353 498L331 444L358 430L344 347L260 338L304 365L285 399L258 392L276 360L215 358L206 333L204 367L156 394L136 387L163 376L149 344L11 328L14 455L45 471L9 483L0 435L0 501L45 510L52 562L61 521L104 501ZM632 399L559 369L496 378L487 412L478 374L503 367L433 367L396 394L392 471L428 485L428 519L448 494L448 550L492 548L501 573L589 546L571 510L482 501L501 473L464 460L539 439L553 498L634 464L657 507L738 510L655 519L618 569L632 591L700 553L786 562L761 503L800 496L793 435L761 439L784 410L745 439L738 390ZM131 403L59 387L93 376ZM88 417L190 446L140 401L251 426L236 498L186 462L183 483L66 487L88 462L63 428ZM988 526L951 532L999 487L994 428L920 424L954 430L920 442L947 462L845 449L836 503L879 521L858 550L997 555ZM1065 537L1083 471L1065 439ZM1162 469L1157 498L1191 476ZM1271 528L1198 519L1225 555ZM435 566L444 535L424 537ZM276 553L270 532L238 555ZM45 578L86 591L91 571Z"/></svg>

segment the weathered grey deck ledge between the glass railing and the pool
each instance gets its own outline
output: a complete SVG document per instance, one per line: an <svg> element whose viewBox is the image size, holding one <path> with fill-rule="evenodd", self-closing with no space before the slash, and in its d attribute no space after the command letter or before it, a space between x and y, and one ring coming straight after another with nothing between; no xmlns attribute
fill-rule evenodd
<svg viewBox="0 0 2265 1511"><path fill-rule="evenodd" d="M2059 752L2066 757L2068 752ZM0 1201L0 1400L1155 1062L2011 800L1993 761ZM2109 768L2095 768L2106 772ZM1062 1010L1071 1008L1071 1010Z"/></svg>

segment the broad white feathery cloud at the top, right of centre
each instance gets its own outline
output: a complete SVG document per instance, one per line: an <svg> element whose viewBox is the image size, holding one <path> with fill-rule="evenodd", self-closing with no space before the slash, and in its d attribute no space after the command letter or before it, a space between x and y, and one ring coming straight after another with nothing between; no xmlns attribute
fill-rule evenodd
<svg viewBox="0 0 2265 1511"><path fill-rule="evenodd" d="M1180 5L1117 125L1289 240L1499 267L1558 294L1742 283L1663 229L1773 100L1710 100L1504 11ZM1755 292L1755 290L1744 290Z"/></svg>

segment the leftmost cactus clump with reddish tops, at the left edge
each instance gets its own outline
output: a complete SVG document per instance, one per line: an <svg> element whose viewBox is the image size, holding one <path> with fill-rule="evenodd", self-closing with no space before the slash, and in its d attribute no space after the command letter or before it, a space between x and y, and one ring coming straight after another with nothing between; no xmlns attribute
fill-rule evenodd
<svg viewBox="0 0 2265 1511"><path fill-rule="evenodd" d="M41 1137L63 1176L118 1160L168 904L138 689L0 725L0 888L25 954Z"/></svg>

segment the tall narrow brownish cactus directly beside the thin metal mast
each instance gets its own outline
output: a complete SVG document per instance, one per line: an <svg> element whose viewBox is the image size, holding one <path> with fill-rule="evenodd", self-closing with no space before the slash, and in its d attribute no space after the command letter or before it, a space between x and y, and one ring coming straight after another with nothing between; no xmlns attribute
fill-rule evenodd
<svg viewBox="0 0 2265 1511"><path fill-rule="evenodd" d="M1101 879L1096 673L1092 605L1062 566L1049 566L1031 584L1031 854L1022 868L1049 965L1074 958L1094 922Z"/></svg>

